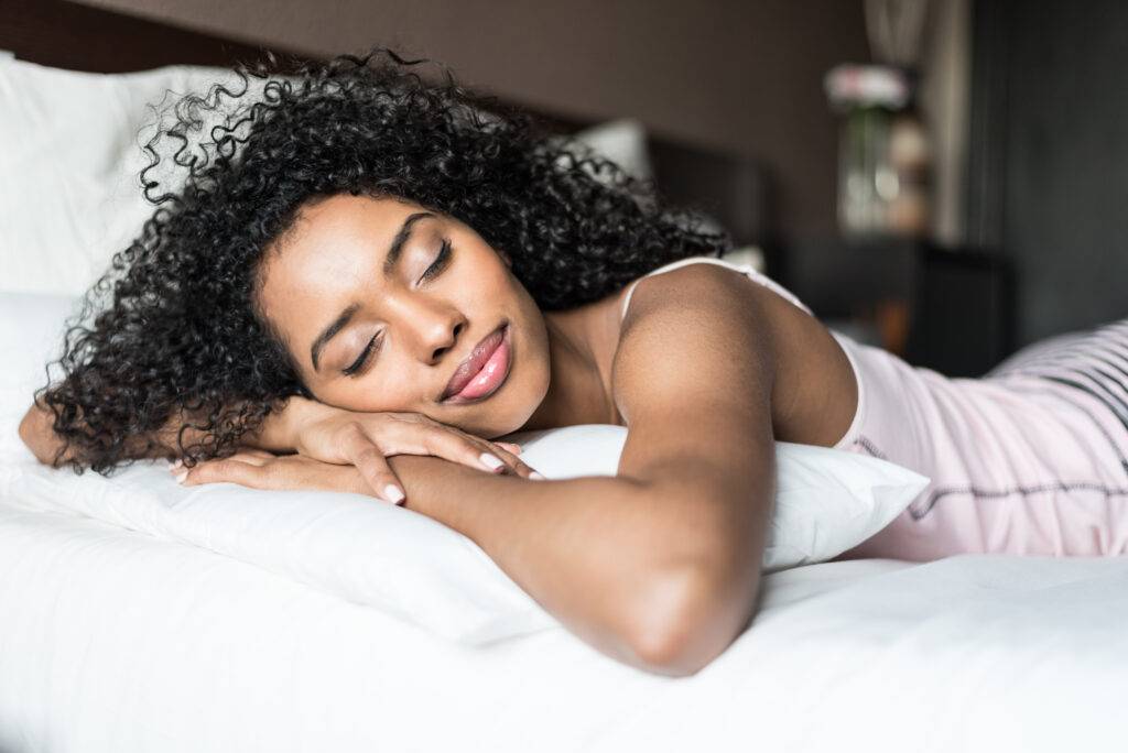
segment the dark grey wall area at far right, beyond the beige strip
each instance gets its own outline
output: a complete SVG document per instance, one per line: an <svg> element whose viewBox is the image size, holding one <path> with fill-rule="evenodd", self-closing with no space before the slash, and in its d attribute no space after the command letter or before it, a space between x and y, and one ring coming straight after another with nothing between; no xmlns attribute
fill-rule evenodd
<svg viewBox="0 0 1128 753"><path fill-rule="evenodd" d="M1017 345L1128 317L1128 2L980 0L968 237L1013 258Z"/></svg>

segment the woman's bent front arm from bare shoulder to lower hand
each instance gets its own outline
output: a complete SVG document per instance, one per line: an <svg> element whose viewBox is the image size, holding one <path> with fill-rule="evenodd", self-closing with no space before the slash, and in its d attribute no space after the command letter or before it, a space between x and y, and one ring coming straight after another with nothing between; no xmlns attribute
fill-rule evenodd
<svg viewBox="0 0 1128 753"><path fill-rule="evenodd" d="M638 285L615 363L629 420L617 477L528 481L397 455L406 506L473 539L609 656L670 675L705 666L752 613L774 499L774 349L741 282L695 265ZM215 461L186 482L363 489L355 468L289 464Z"/></svg>

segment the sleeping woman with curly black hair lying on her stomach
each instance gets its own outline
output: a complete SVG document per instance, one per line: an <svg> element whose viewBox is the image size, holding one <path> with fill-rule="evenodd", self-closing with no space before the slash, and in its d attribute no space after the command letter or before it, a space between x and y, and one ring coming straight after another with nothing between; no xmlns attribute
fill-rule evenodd
<svg viewBox="0 0 1128 753"><path fill-rule="evenodd" d="M36 393L20 435L42 462L167 458L185 485L404 505L670 675L755 611L777 440L932 478L844 557L1125 549L1128 322L979 380L914 369L717 258L728 237L652 184L416 67L240 69L262 99L211 159L178 154L183 189L153 200ZM248 90L190 95L164 135L187 143ZM627 427L617 476L543 480L502 441L575 424Z"/></svg>

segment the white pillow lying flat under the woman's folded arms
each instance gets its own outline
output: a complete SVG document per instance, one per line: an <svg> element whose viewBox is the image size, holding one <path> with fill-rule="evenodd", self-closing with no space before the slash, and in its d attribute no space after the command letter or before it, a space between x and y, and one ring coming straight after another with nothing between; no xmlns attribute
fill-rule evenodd
<svg viewBox="0 0 1128 753"><path fill-rule="evenodd" d="M200 546L386 610L450 640L486 644L556 620L470 539L412 510L355 494L182 487L162 461L105 478L38 464L16 435L73 300L0 293L0 504L87 515ZM16 322L19 322L17 326ZM626 429L570 426L511 435L549 479L614 476ZM822 561L893 520L928 482L873 458L776 443L766 572Z"/></svg>

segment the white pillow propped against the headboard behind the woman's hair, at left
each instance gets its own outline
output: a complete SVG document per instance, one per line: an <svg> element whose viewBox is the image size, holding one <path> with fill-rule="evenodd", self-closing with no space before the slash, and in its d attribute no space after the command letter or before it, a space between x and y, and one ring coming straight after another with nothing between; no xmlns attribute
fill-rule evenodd
<svg viewBox="0 0 1128 753"><path fill-rule="evenodd" d="M89 287L156 209L139 181L157 121L149 106L205 94L218 81L243 88L224 68L107 74L0 57L0 290L74 295ZM252 101L262 83L252 79L233 106ZM220 115L202 115L206 134ZM183 185L183 168L165 160L176 148L158 144L162 163L147 175L161 181L158 195Z"/></svg>

